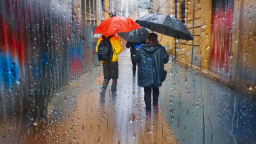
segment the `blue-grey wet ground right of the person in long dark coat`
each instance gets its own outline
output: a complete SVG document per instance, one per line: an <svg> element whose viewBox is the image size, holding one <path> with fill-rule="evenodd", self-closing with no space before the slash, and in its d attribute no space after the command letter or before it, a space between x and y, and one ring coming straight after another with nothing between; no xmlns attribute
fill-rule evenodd
<svg viewBox="0 0 256 144"><path fill-rule="evenodd" d="M256 143L256 97L172 63L162 108L178 143Z"/></svg>

